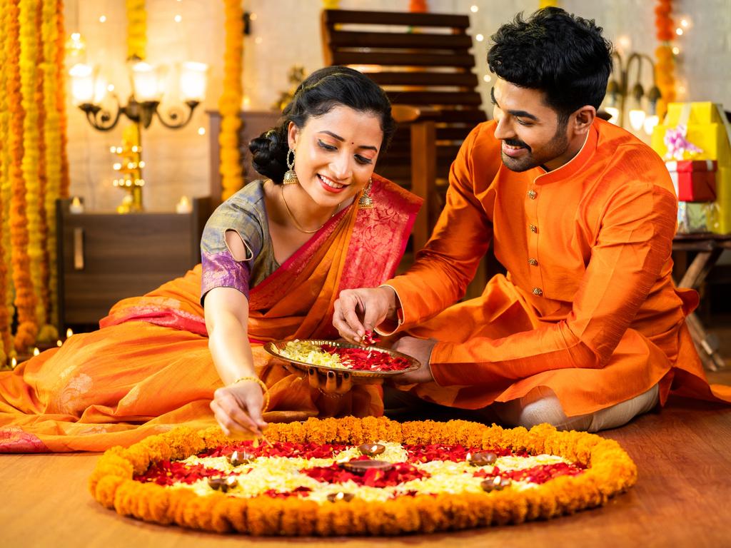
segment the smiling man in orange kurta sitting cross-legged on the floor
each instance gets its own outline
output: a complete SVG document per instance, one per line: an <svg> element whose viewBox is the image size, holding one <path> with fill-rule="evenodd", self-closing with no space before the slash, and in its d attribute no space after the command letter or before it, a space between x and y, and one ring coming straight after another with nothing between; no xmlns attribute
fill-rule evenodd
<svg viewBox="0 0 731 548"><path fill-rule="evenodd" d="M423 366L400 382L426 400L595 431L664 403L674 378L712 397L685 325L697 294L670 277L670 177L596 118L611 71L601 31L558 8L499 28L494 120L463 143L431 240L406 275L336 302L349 340L411 328L395 349ZM491 240L507 277L447 308Z"/></svg>

